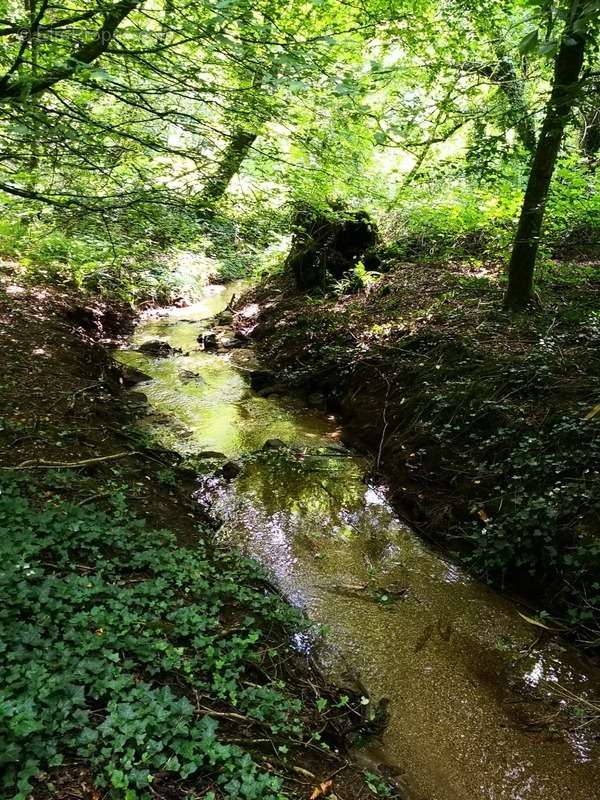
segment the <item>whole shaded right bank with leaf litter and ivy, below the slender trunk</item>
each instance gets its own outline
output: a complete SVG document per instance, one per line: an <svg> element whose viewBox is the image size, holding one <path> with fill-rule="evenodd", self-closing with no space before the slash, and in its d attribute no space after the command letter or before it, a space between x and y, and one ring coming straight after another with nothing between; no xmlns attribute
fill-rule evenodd
<svg viewBox="0 0 600 800"><path fill-rule="evenodd" d="M313 297L279 276L238 327L272 370L263 393L339 414L423 536L597 652L600 267L557 265L517 317L498 272L394 263Z"/></svg>

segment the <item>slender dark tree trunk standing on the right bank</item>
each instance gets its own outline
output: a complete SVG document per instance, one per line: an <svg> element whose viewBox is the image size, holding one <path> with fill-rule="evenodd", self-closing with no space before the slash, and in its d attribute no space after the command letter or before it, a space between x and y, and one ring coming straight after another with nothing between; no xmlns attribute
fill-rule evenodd
<svg viewBox="0 0 600 800"><path fill-rule="evenodd" d="M585 37L574 33L572 28L565 31L554 64L552 92L529 173L508 267L504 305L511 310L525 308L532 296L535 260L548 189L579 86L584 52Z"/></svg>

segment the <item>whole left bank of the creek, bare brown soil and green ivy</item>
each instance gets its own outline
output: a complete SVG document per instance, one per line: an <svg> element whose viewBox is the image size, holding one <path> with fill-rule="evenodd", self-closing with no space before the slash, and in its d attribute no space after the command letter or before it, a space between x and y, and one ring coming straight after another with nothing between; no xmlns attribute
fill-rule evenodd
<svg viewBox="0 0 600 800"><path fill-rule="evenodd" d="M2 797L388 796L346 755L360 696L324 684L292 646L305 621L214 543L195 476L136 432L109 355L131 313L12 272L0 274Z"/></svg>

